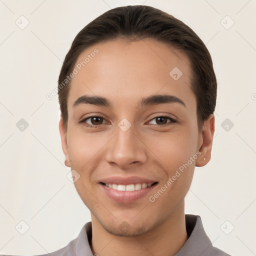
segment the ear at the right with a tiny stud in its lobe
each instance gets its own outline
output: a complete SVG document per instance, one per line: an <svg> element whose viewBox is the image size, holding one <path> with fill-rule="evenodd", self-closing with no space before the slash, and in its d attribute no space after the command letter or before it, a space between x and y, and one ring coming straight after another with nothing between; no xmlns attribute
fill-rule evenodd
<svg viewBox="0 0 256 256"><path fill-rule="evenodd" d="M202 131L199 134L199 152L201 153L195 161L195 166L201 167L209 162L211 157L212 139L214 134L214 115L210 114L203 122Z"/></svg>

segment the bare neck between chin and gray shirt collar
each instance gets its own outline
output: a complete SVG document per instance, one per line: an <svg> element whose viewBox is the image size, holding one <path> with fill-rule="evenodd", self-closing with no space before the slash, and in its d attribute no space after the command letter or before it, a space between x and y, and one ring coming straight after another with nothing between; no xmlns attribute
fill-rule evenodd
<svg viewBox="0 0 256 256"><path fill-rule="evenodd" d="M116 236L107 232L91 214L93 255L117 256L173 256L185 244L184 201L162 224L138 236Z"/></svg>

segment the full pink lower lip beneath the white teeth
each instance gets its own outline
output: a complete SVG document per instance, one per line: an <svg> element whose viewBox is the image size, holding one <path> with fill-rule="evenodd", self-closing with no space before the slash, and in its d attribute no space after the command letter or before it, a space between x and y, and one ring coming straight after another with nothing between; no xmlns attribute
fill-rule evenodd
<svg viewBox="0 0 256 256"><path fill-rule="evenodd" d="M99 185L112 200L116 202L129 203L147 195L157 185L157 183L134 191L119 191L101 183L99 183Z"/></svg>

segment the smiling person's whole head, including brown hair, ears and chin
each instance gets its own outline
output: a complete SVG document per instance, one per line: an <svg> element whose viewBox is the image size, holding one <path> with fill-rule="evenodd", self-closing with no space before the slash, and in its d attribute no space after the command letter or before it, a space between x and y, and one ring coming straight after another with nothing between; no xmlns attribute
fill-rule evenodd
<svg viewBox="0 0 256 256"><path fill-rule="evenodd" d="M210 159L214 133L216 78L191 28L150 6L103 13L75 36L58 97L65 165L78 173L75 188L107 231L142 234L179 209L194 167ZM113 176L153 185L137 200L115 201L102 182Z"/></svg>

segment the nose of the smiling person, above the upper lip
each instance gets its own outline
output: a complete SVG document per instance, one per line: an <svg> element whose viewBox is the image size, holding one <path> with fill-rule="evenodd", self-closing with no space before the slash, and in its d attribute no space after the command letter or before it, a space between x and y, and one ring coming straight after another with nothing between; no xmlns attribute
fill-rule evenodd
<svg viewBox="0 0 256 256"><path fill-rule="evenodd" d="M126 131L117 126L115 135L108 143L106 161L118 165L119 168L128 168L129 165L146 161L145 150L143 138L133 125Z"/></svg>

